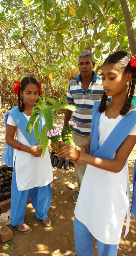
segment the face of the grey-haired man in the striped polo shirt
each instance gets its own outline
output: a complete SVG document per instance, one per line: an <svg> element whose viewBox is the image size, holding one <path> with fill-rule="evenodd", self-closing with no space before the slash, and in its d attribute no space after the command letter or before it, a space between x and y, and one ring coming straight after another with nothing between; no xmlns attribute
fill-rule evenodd
<svg viewBox="0 0 136 256"><path fill-rule="evenodd" d="M95 62L91 61L90 56L84 56L79 59L79 71L82 76L89 76L95 66Z"/></svg>

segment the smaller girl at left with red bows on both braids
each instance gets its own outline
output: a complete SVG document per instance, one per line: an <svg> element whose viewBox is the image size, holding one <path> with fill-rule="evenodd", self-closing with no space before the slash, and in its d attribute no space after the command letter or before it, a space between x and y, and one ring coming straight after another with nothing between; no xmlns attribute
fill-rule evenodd
<svg viewBox="0 0 136 256"><path fill-rule="evenodd" d="M26 76L14 84L13 91L18 94L18 107L13 107L5 115L6 137L2 162L7 166L13 164L11 183L11 225L19 231L28 230L24 222L25 209L31 197L36 218L46 226L51 225L47 216L51 204L51 186L53 180L52 165L48 149L42 158L34 132L26 132L26 126L32 114L32 108L42 93L41 84ZM41 118L39 130L45 120ZM14 135L17 135L17 140ZM13 152L14 149L14 152Z"/></svg>

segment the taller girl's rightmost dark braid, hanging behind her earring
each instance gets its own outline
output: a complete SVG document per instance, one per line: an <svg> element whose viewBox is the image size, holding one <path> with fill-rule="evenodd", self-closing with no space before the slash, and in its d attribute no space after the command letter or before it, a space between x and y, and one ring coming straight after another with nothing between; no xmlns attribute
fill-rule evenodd
<svg viewBox="0 0 136 256"><path fill-rule="evenodd" d="M132 83L131 83L131 88L130 88L130 95L129 95L129 97L128 97L128 95L126 95L125 103L124 103L122 109L120 110L121 115L125 115L131 108L131 103L132 103L134 89L135 89L135 82L136 82L135 67L133 67L132 68Z"/></svg>

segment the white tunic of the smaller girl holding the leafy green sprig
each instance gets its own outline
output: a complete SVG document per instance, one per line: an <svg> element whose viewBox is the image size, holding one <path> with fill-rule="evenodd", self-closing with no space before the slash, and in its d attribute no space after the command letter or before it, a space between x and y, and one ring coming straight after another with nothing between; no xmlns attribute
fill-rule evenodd
<svg viewBox="0 0 136 256"><path fill-rule="evenodd" d="M25 117L29 121L30 116L25 115ZM10 115L8 116L7 124L17 126ZM20 143L28 147L32 147L32 145L28 143L25 136L22 134L18 127L16 130L16 135L17 140ZM42 156L34 157L30 153L14 149L13 164L15 158L16 181L18 190L43 187L53 181L52 164L48 149L46 149L46 153L43 158Z"/></svg>

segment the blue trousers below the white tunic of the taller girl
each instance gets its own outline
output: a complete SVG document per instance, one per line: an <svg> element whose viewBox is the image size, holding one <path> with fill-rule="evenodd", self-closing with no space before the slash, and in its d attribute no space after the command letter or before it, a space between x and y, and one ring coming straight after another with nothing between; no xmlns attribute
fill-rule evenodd
<svg viewBox="0 0 136 256"><path fill-rule="evenodd" d="M77 255L93 255L93 236L87 227L74 219L75 250ZM104 244L97 240L98 255L117 255L119 244Z"/></svg>

